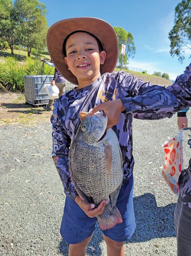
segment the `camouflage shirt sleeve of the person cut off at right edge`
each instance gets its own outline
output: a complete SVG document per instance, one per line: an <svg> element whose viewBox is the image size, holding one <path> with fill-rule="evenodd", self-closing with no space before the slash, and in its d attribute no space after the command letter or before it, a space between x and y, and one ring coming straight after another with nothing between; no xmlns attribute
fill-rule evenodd
<svg viewBox="0 0 191 256"><path fill-rule="evenodd" d="M191 63L167 90L176 96L180 110L191 107Z"/></svg>

